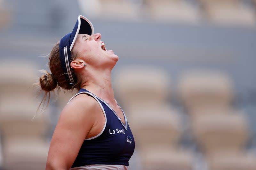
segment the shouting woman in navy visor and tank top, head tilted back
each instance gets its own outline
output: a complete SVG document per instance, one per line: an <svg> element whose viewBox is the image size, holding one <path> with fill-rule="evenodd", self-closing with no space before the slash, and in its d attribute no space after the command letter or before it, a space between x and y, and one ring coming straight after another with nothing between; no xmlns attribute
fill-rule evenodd
<svg viewBox="0 0 256 170"><path fill-rule="evenodd" d="M101 35L93 30L92 23L80 15L72 33L51 51L52 74L40 77L44 99L57 86L79 90L61 112L47 170L128 169L134 151L131 129L111 85L118 56L106 50Z"/></svg>

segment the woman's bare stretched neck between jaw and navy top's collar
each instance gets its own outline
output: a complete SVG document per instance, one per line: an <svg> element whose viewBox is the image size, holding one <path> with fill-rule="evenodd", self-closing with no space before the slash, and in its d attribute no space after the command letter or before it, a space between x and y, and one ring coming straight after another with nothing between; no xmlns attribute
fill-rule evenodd
<svg viewBox="0 0 256 170"><path fill-rule="evenodd" d="M114 91L111 83L111 70L93 71L82 75L83 79L81 88L92 92L96 96L109 103L115 103Z"/></svg>

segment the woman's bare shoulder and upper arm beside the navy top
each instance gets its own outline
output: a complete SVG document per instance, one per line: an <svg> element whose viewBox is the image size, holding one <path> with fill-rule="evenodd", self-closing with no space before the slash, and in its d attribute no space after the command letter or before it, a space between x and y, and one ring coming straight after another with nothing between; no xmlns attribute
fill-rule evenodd
<svg viewBox="0 0 256 170"><path fill-rule="evenodd" d="M85 94L71 100L61 112L50 144L46 169L69 169L95 122L97 101ZM53 168L54 169L54 168Z"/></svg>

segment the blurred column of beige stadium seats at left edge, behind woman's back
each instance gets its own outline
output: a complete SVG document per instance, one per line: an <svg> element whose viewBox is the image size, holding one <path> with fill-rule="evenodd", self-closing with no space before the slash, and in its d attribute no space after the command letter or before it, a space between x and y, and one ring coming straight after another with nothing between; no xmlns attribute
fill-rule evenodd
<svg viewBox="0 0 256 170"><path fill-rule="evenodd" d="M49 141L47 113L36 115L33 63L2 63L0 78L0 129L4 169L44 169ZM31 67L32 66L32 67ZM36 115L36 116L35 116ZM32 118L35 118L32 120Z"/></svg>

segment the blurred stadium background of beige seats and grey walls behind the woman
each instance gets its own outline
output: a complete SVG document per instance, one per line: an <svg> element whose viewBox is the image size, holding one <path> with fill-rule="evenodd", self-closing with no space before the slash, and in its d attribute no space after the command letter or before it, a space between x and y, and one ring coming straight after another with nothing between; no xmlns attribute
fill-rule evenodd
<svg viewBox="0 0 256 170"><path fill-rule="evenodd" d="M78 15L119 56L131 170L256 170L255 0L0 0L1 170L45 168L75 92L36 114L33 83Z"/></svg>

